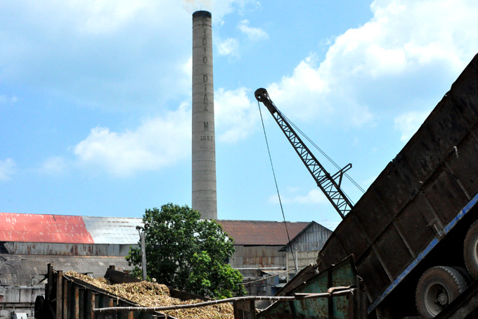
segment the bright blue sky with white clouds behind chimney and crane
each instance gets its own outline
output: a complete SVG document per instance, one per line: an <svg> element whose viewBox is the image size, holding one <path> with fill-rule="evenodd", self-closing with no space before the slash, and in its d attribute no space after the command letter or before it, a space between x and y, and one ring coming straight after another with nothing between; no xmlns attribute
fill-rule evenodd
<svg viewBox="0 0 478 319"><path fill-rule="evenodd" d="M340 215L261 105L269 161L255 89L367 189L477 54L478 1L294 4L0 1L0 211L190 206L192 13L207 10L218 218L283 220L274 171L286 220L333 229Z"/></svg>

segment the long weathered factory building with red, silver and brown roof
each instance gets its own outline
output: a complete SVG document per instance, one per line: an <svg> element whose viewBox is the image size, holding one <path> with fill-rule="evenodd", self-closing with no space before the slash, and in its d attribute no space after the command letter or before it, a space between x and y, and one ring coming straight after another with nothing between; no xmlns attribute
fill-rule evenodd
<svg viewBox="0 0 478 319"><path fill-rule="evenodd" d="M245 277L248 294L270 295L279 275L286 272L285 223L217 222L235 240L230 263ZM136 226L142 225L141 218L0 213L0 316L12 311L33 315L36 296L44 294L44 274L49 264L92 277L103 277L110 266L130 270L124 257L130 246L137 246ZM318 224L286 225L290 237L297 238ZM271 279L260 280L264 277Z"/></svg>

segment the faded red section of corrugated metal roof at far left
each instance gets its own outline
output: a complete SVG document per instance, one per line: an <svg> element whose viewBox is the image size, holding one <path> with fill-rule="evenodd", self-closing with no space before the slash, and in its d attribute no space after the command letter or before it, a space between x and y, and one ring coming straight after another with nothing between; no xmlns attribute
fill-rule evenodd
<svg viewBox="0 0 478 319"><path fill-rule="evenodd" d="M93 244L80 216L0 213L1 242Z"/></svg>

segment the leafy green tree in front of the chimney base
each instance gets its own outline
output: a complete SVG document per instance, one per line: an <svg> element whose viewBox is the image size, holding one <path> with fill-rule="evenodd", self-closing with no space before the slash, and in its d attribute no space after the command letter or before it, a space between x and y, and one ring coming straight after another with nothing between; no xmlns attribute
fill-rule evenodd
<svg viewBox="0 0 478 319"><path fill-rule="evenodd" d="M167 204L143 215L148 278L212 298L243 292L243 276L228 265L234 241L214 220L200 220L188 206ZM141 277L141 248L130 248L127 261Z"/></svg>

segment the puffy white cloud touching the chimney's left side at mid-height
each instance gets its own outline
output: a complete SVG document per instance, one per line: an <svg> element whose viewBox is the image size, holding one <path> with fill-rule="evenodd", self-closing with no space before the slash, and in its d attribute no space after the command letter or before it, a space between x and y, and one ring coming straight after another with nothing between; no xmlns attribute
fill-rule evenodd
<svg viewBox="0 0 478 319"><path fill-rule="evenodd" d="M80 165L120 177L174 165L190 154L190 109L182 104L178 111L145 120L133 131L93 128L75 146L75 154Z"/></svg>

